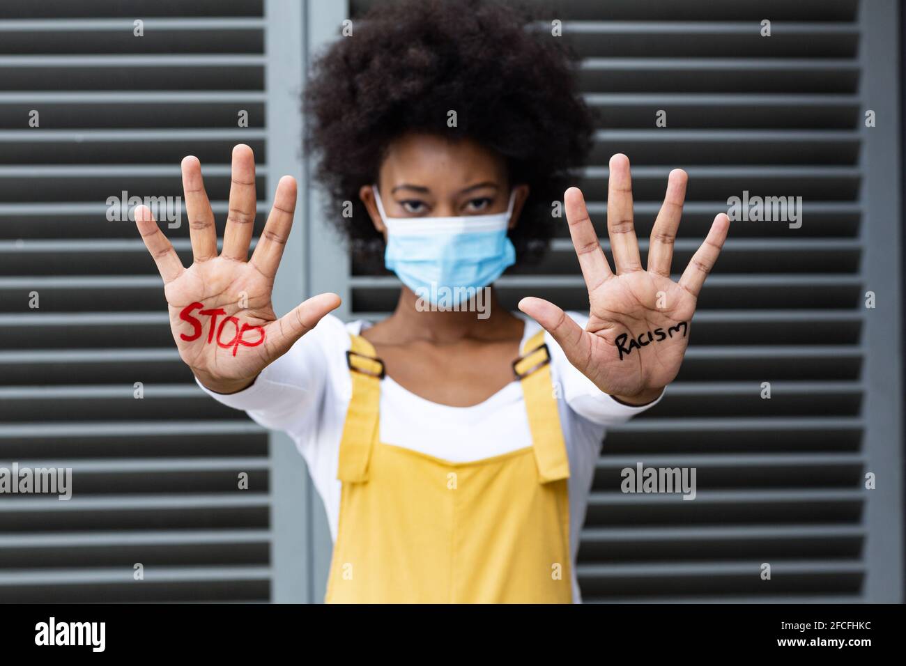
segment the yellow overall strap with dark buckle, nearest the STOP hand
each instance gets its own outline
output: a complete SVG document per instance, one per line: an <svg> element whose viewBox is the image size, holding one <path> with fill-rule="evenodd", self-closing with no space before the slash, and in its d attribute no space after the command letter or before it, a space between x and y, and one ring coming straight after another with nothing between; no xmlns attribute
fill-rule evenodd
<svg viewBox="0 0 906 666"><path fill-rule="evenodd" d="M337 478L361 483L368 480L371 447L378 434L384 364L371 343L361 335L351 333L350 338L352 347L346 352L346 362L352 379L352 398L340 439Z"/></svg>

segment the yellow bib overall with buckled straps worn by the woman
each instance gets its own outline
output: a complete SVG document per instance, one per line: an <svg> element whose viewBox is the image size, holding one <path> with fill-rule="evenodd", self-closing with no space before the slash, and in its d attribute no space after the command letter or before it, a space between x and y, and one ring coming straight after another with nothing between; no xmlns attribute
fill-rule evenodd
<svg viewBox="0 0 906 666"><path fill-rule="evenodd" d="M513 363L533 445L450 462L379 439L383 363L352 336L327 603L570 603L569 461L544 331Z"/></svg>

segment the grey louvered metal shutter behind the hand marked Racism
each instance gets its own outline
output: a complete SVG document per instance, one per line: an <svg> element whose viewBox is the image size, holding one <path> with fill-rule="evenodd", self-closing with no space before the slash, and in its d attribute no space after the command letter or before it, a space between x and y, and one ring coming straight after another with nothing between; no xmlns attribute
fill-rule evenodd
<svg viewBox="0 0 906 666"><path fill-rule="evenodd" d="M353 15L374 4L353 3ZM643 259L668 172L689 172L677 275L729 197L804 200L801 228L731 225L678 380L609 433L579 554L585 600L900 600L896 4L544 5L557 7L547 14L564 21L601 111L581 185L606 251L614 152L632 162ZM655 126L660 110L667 128ZM877 127L864 126L867 110ZM396 303L395 278L349 273L352 316ZM588 307L565 225L543 265L497 286L514 309L529 294ZM697 468L698 498L623 495L620 472L639 461ZM866 472L877 489L863 489Z"/></svg>

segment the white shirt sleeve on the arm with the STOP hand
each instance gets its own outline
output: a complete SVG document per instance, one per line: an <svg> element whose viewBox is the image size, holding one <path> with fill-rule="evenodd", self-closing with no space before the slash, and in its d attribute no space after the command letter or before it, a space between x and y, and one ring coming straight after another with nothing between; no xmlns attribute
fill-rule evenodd
<svg viewBox="0 0 906 666"><path fill-rule="evenodd" d="M271 430L299 437L317 420L328 383L330 340L346 335L344 324L327 314L290 350L268 365L251 386L236 393L217 393L196 383L214 400L245 410L255 422Z"/></svg>

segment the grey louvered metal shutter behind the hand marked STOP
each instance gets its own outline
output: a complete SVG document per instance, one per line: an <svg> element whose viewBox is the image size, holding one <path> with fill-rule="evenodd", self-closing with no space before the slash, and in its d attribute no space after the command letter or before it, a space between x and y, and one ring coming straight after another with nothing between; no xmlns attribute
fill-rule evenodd
<svg viewBox="0 0 906 666"><path fill-rule="evenodd" d="M73 470L69 501L0 496L0 601L273 597L268 435L198 391L134 223L105 214L122 190L181 196L191 152L222 235L241 141L258 162L260 229L265 33L279 21L262 0L0 5L0 467ZM185 215L161 227L188 265Z"/></svg>

